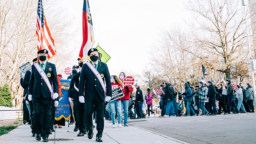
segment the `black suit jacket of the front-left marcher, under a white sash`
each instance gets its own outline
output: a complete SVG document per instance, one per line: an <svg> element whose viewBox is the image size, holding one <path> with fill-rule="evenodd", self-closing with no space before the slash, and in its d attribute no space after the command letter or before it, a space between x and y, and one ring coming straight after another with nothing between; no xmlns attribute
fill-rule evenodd
<svg viewBox="0 0 256 144"><path fill-rule="evenodd" d="M49 79L49 82L53 85L53 92L59 94L55 65L50 62L46 62L44 72L46 73L46 75L50 73L51 76L47 77ZM36 70L35 65L32 65L28 94L32 95L32 98L39 98L41 94L45 98L51 98L51 92L39 72Z"/></svg>

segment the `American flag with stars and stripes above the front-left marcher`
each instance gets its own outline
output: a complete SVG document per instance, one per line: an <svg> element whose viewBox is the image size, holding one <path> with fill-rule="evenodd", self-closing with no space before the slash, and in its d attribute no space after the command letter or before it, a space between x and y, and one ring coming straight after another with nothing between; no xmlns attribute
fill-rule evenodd
<svg viewBox="0 0 256 144"><path fill-rule="evenodd" d="M38 51L46 49L48 51L49 59L56 54L56 49L54 45L54 39L51 36L51 31L46 22L42 0L38 0L36 28L36 35L38 36Z"/></svg>

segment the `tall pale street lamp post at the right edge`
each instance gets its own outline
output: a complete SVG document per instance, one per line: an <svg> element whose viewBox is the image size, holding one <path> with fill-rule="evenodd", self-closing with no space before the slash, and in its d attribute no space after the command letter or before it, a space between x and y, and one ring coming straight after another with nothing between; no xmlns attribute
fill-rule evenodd
<svg viewBox="0 0 256 144"><path fill-rule="evenodd" d="M249 34L248 34L248 26L247 26L247 18L246 18L246 11L245 6L247 5L247 0L242 0L244 15L245 15L245 24L246 24L246 33L247 33L247 41L248 41L248 49L249 49L249 58L250 58L250 65L251 65L251 72L252 72L252 88L254 95L256 94L255 89L255 80L254 80L254 72L253 72L253 65L252 65L252 54L251 54L251 47L250 47L250 41L249 41ZM256 98L254 98L254 103L256 105ZM253 108L254 109L254 108Z"/></svg>

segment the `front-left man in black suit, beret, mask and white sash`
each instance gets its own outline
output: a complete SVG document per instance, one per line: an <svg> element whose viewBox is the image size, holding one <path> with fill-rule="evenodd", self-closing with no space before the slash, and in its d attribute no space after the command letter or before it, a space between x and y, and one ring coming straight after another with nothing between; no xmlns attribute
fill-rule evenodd
<svg viewBox="0 0 256 144"><path fill-rule="evenodd" d="M48 51L46 49L38 51L40 62L32 65L28 89L28 99L29 101L32 100L34 110L35 139L41 140L40 134L43 127L43 142L48 142L50 132L51 101L59 97L56 67L46 61L47 54ZM55 107L58 104L58 101L55 101ZM41 106L43 107L43 126L40 123Z"/></svg>

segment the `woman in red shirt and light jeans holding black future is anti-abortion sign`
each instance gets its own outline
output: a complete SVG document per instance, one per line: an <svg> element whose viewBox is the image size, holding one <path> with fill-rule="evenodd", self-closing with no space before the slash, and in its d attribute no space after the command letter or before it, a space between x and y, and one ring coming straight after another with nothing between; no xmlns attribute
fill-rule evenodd
<svg viewBox="0 0 256 144"><path fill-rule="evenodd" d="M123 90L123 82L117 76L111 76L111 87L112 90L120 87L120 90ZM111 119L112 119L112 128L115 128L115 109L117 109L117 119L118 119L118 127L122 128L121 118L123 118L122 110L121 110L121 98L118 98L114 101L110 101L111 108Z"/></svg>

